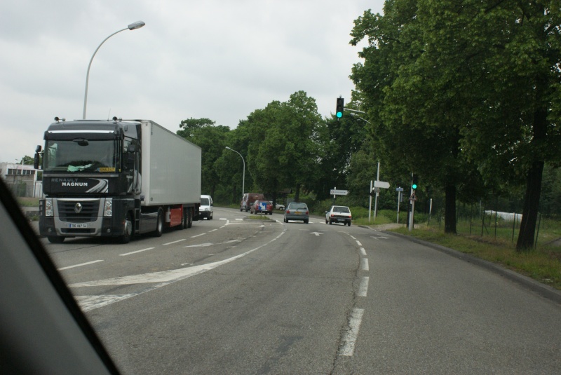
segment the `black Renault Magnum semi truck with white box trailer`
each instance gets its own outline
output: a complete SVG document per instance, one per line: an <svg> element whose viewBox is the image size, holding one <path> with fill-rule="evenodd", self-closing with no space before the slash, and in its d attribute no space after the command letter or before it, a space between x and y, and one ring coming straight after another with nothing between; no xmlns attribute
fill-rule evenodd
<svg viewBox="0 0 561 375"><path fill-rule="evenodd" d="M154 121L55 117L44 140L34 162L43 170L45 195L39 233L50 243L68 237L128 243L198 220L201 148Z"/></svg>

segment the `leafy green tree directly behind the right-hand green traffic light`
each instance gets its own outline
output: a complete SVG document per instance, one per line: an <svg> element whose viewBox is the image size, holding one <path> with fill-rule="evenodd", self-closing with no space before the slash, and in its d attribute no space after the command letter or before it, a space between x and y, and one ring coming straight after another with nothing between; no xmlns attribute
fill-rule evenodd
<svg viewBox="0 0 561 375"><path fill-rule="evenodd" d="M426 58L418 2L387 1L384 12L367 11L355 21L351 43L365 37L370 42L361 53L365 64L353 67L356 95L368 106L375 147L383 150L385 164L442 186L445 232L456 233L457 189L475 170L459 149L465 109L461 97L445 90L446 76Z"/></svg>

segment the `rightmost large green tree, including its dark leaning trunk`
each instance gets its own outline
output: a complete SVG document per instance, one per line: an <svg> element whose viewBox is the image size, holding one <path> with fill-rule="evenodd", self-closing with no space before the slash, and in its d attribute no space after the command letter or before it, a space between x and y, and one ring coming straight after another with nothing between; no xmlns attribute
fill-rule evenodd
<svg viewBox="0 0 561 375"><path fill-rule="evenodd" d="M561 158L555 100L561 82L559 3L419 3L426 7L427 49L463 57L461 73L450 79L468 93L471 109L460 127L462 151L487 182L526 180L516 247L528 250L534 245L543 165Z"/></svg>

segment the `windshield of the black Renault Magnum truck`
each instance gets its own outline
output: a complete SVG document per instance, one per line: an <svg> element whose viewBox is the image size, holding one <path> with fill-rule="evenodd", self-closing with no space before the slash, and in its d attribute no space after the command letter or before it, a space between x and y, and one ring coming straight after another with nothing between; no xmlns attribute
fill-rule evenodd
<svg viewBox="0 0 561 375"><path fill-rule="evenodd" d="M116 141L76 138L48 140L43 154L45 172L115 172Z"/></svg>

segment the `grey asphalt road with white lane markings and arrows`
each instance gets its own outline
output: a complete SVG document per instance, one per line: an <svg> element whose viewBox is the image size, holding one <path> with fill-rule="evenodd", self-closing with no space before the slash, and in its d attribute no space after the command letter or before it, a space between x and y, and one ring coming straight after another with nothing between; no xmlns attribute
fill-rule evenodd
<svg viewBox="0 0 561 375"><path fill-rule="evenodd" d="M215 219L45 245L124 374L560 374L561 306L359 226Z"/></svg>

